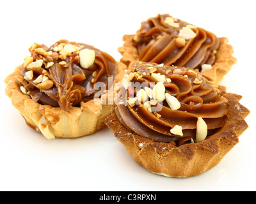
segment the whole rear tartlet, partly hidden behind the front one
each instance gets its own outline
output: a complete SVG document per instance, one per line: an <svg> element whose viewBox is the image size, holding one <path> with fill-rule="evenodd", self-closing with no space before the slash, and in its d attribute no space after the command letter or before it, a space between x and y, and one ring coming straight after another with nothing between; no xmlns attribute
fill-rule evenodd
<svg viewBox="0 0 256 204"><path fill-rule="evenodd" d="M125 34L123 41L118 51L127 66L134 61L184 66L198 69L213 84L220 84L236 63L227 38L168 14L148 18L136 34Z"/></svg>

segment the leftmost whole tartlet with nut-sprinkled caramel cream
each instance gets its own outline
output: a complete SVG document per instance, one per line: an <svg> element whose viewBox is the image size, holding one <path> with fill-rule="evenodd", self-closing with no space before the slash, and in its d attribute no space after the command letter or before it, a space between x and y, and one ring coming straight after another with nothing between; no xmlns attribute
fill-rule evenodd
<svg viewBox="0 0 256 204"><path fill-rule="evenodd" d="M124 77L126 68L111 55L83 43L60 40L51 47L33 43L24 59L4 82L6 95L29 127L45 138L77 138L103 128L109 105L94 85L106 86Z"/></svg>

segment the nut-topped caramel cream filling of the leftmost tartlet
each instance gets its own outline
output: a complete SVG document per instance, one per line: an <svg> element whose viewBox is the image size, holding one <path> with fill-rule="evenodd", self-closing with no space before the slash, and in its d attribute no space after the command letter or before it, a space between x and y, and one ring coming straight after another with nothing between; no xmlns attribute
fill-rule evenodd
<svg viewBox="0 0 256 204"><path fill-rule="evenodd" d="M34 43L29 51L21 71L24 79L18 79L24 92L65 111L93 99L95 83L103 82L108 89L108 77L116 75L113 57L83 43L60 40L50 48Z"/></svg>

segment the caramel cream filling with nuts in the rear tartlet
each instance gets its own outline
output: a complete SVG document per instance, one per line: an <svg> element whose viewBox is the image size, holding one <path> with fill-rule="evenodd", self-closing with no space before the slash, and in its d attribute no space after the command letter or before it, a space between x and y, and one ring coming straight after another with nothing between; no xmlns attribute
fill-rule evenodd
<svg viewBox="0 0 256 204"><path fill-rule="evenodd" d="M219 40L205 29L159 14L142 22L134 46L140 61L201 70L203 64L214 64Z"/></svg>

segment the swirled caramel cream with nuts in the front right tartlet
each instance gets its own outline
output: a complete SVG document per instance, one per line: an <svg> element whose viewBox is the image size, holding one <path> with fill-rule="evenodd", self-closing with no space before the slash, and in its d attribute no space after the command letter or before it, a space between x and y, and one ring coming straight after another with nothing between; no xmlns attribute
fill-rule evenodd
<svg viewBox="0 0 256 204"><path fill-rule="evenodd" d="M134 62L125 83L116 116L138 135L182 145L199 142L198 120L207 126L205 136L225 122L227 99L198 69Z"/></svg>

